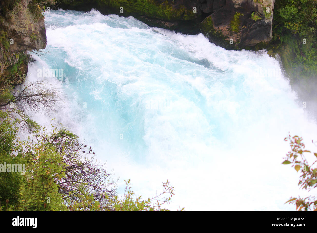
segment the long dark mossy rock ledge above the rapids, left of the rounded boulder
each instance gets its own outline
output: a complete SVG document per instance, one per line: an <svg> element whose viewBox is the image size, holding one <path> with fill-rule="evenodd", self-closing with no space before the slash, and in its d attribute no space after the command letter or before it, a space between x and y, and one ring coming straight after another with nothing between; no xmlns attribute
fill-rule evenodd
<svg viewBox="0 0 317 233"><path fill-rule="evenodd" d="M84 11L94 8L102 14L133 16L149 26L185 34L200 33L199 23L203 19L199 0L61 0L56 8Z"/></svg>

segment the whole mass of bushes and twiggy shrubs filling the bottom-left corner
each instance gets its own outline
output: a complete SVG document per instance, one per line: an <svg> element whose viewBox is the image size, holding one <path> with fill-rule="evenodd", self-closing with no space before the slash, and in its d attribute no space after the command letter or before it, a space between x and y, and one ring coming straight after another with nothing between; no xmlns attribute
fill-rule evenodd
<svg viewBox="0 0 317 233"><path fill-rule="evenodd" d="M24 175L0 172L0 210L168 211L161 207L174 194L174 187L168 181L163 183L164 190L159 195L142 200L140 196L134 198L129 180L125 196L120 200L114 189L107 189L107 184L103 184L108 182L110 174L104 174L103 178L102 166L80 156L80 149L86 145L78 143L78 136L56 126L46 133L46 127L40 128L35 121L22 116L33 127L34 134L24 141L17 137L20 120L0 111L0 163L25 164ZM89 148L84 154L91 152Z"/></svg>

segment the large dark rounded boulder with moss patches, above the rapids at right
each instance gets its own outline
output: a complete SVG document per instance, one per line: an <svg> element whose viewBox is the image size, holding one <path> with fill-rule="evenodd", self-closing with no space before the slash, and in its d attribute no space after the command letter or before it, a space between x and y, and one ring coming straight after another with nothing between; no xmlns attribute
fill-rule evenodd
<svg viewBox="0 0 317 233"><path fill-rule="evenodd" d="M222 0L214 0L213 5L215 2ZM227 49L268 43L272 39L273 8L274 0L227 0L200 23L200 29L211 42Z"/></svg>

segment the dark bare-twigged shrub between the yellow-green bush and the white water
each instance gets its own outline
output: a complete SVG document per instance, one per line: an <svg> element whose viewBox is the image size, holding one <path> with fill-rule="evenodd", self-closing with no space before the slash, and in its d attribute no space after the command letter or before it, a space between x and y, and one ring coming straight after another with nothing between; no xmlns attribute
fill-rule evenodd
<svg viewBox="0 0 317 233"><path fill-rule="evenodd" d="M65 176L57 180L58 191L64 203L71 207L75 202L82 202L82 198L94 197L100 206L106 208L109 199L113 197L115 183L111 178L112 171L107 171L105 164L100 164L95 159L92 148L81 143L74 133L64 127L53 126L50 135L38 132L36 138L45 140L47 146L53 146L62 155L63 172Z"/></svg>

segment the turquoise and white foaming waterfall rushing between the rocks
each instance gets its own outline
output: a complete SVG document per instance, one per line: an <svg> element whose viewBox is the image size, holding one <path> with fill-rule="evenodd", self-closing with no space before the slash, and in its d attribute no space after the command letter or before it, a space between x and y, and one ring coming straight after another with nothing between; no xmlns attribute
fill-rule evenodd
<svg viewBox="0 0 317 233"><path fill-rule="evenodd" d="M114 169L121 194L124 179L145 198L168 179L171 210L295 209L284 205L301 191L281 165L283 139L297 134L314 151L317 126L266 51L228 51L95 10L51 10L45 25L49 53L33 55L28 81L63 69L45 78L61 88L53 117Z"/></svg>

